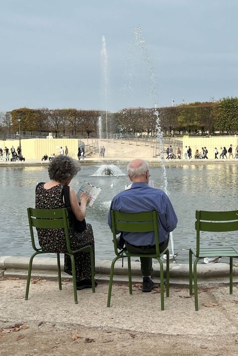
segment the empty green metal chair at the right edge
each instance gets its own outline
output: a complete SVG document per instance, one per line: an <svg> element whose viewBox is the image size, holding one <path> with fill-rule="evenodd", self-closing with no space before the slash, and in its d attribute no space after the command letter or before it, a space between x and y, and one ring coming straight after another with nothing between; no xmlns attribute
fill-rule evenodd
<svg viewBox="0 0 238 356"><path fill-rule="evenodd" d="M234 247L207 247L200 248L200 231L202 232L228 232L238 230L238 211L207 212L196 211L196 248L189 249L189 293L192 295L192 281L194 279L195 310L198 310L197 295L197 263L205 257L229 257L229 293L232 294L232 261L238 258L238 250ZM228 238L227 238L228 240ZM209 240L211 243L211 240ZM196 257L192 270L192 255Z"/></svg>

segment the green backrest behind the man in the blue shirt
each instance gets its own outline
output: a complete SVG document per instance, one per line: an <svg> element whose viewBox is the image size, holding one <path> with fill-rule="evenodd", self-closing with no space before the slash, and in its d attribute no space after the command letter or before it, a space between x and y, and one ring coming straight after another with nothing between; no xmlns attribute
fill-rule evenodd
<svg viewBox="0 0 238 356"><path fill-rule="evenodd" d="M156 211L143 213L122 213L120 211L111 210L111 223L114 251L119 255L116 246L116 234L119 232L154 232L156 253L160 257L159 249L159 223L158 213Z"/></svg>

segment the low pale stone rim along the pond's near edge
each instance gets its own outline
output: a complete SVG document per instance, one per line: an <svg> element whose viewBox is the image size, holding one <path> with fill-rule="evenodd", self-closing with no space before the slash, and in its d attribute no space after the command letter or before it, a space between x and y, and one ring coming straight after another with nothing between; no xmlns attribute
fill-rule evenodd
<svg viewBox="0 0 238 356"><path fill-rule="evenodd" d="M28 270L30 257L24 256L0 256L0 270L5 270L4 275L8 273L8 270ZM64 269L64 258L60 259L61 270ZM96 260L95 272L99 275L109 275L110 273L110 260ZM153 263L155 275L160 271L159 263ZM164 264L164 270L166 266ZM35 257L33 260L33 271L57 271L57 260L52 257ZM228 277L229 265L226 263L212 263L212 264L198 264L197 267L198 277L203 278L219 278ZM126 259L124 259L124 267L122 268L122 260L118 260L115 263L114 274L120 276L127 276L128 265ZM132 274L133 276L141 276L140 262L132 262ZM66 275L68 276L68 275ZM171 263L170 264L170 277L171 278L188 278L189 265ZM233 264L233 276L238 277L238 264Z"/></svg>

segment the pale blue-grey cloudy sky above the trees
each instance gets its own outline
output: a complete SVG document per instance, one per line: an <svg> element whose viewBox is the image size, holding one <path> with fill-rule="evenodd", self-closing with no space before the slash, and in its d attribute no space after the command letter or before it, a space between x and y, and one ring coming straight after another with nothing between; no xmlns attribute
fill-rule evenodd
<svg viewBox="0 0 238 356"><path fill-rule="evenodd" d="M2 0L0 110L237 96L237 14L237 0Z"/></svg>

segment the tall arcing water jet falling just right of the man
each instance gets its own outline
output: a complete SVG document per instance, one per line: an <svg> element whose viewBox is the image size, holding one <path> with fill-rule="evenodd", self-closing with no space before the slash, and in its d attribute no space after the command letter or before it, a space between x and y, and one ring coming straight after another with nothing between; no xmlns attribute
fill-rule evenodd
<svg viewBox="0 0 238 356"><path fill-rule="evenodd" d="M164 180L164 191L165 193L169 196L169 191L168 191L168 180L167 180L167 175L166 175L166 168L165 168L165 160L163 157L163 150L164 150L164 140L163 140L163 134L162 134L162 129L161 129L161 122L160 122L160 116L159 116L159 110L157 109L157 99L158 99L158 92L157 92L157 81L156 81L156 76L155 76L155 70L153 66L152 59L150 57L146 40L143 37L142 34L142 29L140 26L137 26L133 32L132 32L132 42L129 46L129 60L127 63L127 68L126 68L126 75L127 75L127 85L125 89L127 89L128 92L128 97L132 101L132 94L133 94L133 74L135 73L136 65L134 63L135 61L135 53L134 51L137 50L138 48L140 49L140 54L141 58L144 60L146 63L146 70L147 70L147 76L149 77L149 82L146 87L144 87L148 93L149 96L149 101L153 104L153 115L156 120L156 131L157 131L157 142L160 147L161 151L161 162L162 162L162 169L163 169L163 180ZM131 71L130 71L131 68ZM131 104L131 103L130 103ZM170 244L171 244L171 250L172 250L172 255L174 255L174 240L173 240L173 233L170 233Z"/></svg>

